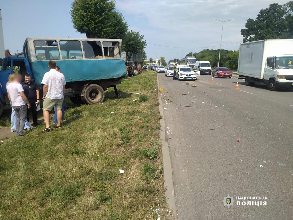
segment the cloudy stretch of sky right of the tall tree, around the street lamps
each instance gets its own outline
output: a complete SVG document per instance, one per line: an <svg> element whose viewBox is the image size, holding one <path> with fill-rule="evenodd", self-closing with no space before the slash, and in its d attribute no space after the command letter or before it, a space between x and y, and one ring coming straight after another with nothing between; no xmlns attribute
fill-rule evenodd
<svg viewBox="0 0 293 220"><path fill-rule="evenodd" d="M289 0L279 0L285 4ZM219 45L222 23L219 20L234 19L224 23L223 44L242 41L240 33L245 28L248 18L255 18L258 12L267 8L271 0L117 0L117 9L125 16L130 28L140 31L148 43L192 47L188 41L197 40L194 47ZM239 44L224 46L225 49L237 50ZM155 48L155 49L154 49ZM211 48L217 49L217 48ZM183 55L192 49L184 50ZM200 51L202 49L194 49ZM181 49L163 48L148 45L148 57L165 56L166 60L181 58Z"/></svg>

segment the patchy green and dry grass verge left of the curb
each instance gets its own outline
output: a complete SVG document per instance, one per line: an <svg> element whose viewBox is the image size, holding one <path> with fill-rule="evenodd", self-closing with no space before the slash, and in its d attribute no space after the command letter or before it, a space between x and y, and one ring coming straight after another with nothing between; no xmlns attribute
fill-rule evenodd
<svg viewBox="0 0 293 220"><path fill-rule="evenodd" d="M119 98L111 88L101 104L68 104L61 130L41 133L42 124L0 145L0 219L150 219L151 208L169 216L156 73L117 87Z"/></svg>

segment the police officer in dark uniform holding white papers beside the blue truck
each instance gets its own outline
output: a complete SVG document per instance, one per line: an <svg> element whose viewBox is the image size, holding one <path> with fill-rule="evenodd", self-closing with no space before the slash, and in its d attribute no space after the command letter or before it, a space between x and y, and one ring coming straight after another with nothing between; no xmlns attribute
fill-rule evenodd
<svg viewBox="0 0 293 220"><path fill-rule="evenodd" d="M30 74L25 74L24 77L24 81L21 83L23 90L24 90L24 94L27 97L31 108L28 109L28 113L26 115L26 118L28 120L28 115L30 113L30 111L32 112L33 115L33 125L34 126L38 126L39 124L37 123L37 106L36 106L36 102L39 103L40 102L40 94L39 94L39 90L38 90L38 85L34 82L31 81L31 76ZM29 121L29 120L28 120Z"/></svg>

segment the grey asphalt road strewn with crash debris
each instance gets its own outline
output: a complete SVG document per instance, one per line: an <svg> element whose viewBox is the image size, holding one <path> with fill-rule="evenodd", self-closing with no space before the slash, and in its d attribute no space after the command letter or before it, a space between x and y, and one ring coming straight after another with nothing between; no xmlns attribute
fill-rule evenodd
<svg viewBox="0 0 293 220"><path fill-rule="evenodd" d="M178 220L293 219L293 90L158 75ZM228 194L267 205L224 207Z"/></svg>

